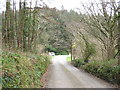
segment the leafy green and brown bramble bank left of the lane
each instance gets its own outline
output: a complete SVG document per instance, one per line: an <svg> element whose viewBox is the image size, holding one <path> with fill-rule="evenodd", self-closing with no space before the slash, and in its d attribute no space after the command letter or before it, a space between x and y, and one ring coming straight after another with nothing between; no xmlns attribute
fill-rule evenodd
<svg viewBox="0 0 120 90"><path fill-rule="evenodd" d="M3 52L1 60L3 88L42 87L40 79L50 63L47 56Z"/></svg>

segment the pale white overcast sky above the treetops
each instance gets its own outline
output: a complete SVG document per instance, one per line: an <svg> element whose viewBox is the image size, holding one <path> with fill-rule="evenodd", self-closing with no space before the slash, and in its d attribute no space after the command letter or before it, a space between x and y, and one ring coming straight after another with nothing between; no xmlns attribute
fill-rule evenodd
<svg viewBox="0 0 120 90"><path fill-rule="evenodd" d="M10 0L11 2L13 0ZM18 2L20 0L14 0L18 5ZM24 1L24 0L22 0ZM27 2L30 2L31 0L26 0ZM32 0L32 3L34 4L36 0ZM40 0L37 0L38 3L40 3ZM70 9L76 9L76 8L81 8L80 3L90 3L90 2L99 2L99 0L43 0L49 7L53 8L56 7L57 9L61 9L61 6L64 6L64 9L67 9L68 11ZM110 0L104 0L104 1L110 1ZM119 0L117 0L119 1ZM5 3L6 0L0 0L0 12L5 10ZM33 5L34 6L34 5Z"/></svg>

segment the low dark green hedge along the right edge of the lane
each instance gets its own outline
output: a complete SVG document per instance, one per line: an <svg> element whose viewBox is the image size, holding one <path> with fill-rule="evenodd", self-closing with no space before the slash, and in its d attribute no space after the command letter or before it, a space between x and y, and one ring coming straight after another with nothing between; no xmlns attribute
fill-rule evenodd
<svg viewBox="0 0 120 90"><path fill-rule="evenodd" d="M76 61L78 62L78 61ZM76 65L74 63L74 65ZM102 61L91 61L89 63L84 63L79 60L80 68L85 71L104 79L113 84L120 84L120 65L117 65L117 60L102 60Z"/></svg>

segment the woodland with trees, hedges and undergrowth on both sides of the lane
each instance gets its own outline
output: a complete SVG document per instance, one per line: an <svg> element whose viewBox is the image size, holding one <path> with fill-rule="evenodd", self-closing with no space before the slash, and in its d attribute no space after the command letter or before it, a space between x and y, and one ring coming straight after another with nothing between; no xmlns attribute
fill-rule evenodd
<svg viewBox="0 0 120 90"><path fill-rule="evenodd" d="M73 66L119 85L119 3L82 4L82 12L38 6L37 0L35 7L20 1L19 9L14 0L6 2L0 13L1 86L42 87L38 79L50 64L49 52L71 54Z"/></svg>

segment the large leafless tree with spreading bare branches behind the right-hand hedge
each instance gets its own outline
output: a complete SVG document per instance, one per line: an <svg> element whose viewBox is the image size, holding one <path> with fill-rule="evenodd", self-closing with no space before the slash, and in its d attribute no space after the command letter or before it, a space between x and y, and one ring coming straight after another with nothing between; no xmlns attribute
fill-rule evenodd
<svg viewBox="0 0 120 90"><path fill-rule="evenodd" d="M116 2L102 1L101 3L97 3L95 1L95 3L91 3L87 6L83 5L83 8L86 11L86 16L83 16L84 19L82 21L90 28L88 30L89 33L104 45L104 49L108 52L107 58L112 58L113 56L111 53L114 50L113 48L117 38L116 16L118 5Z"/></svg>

